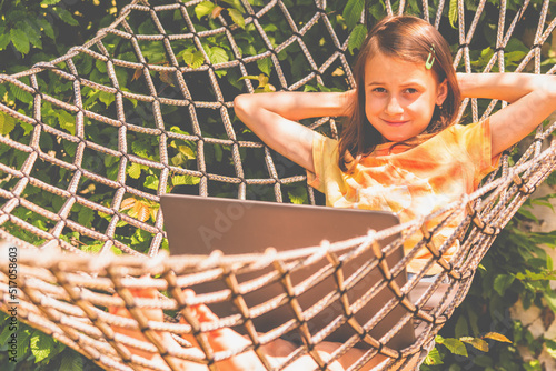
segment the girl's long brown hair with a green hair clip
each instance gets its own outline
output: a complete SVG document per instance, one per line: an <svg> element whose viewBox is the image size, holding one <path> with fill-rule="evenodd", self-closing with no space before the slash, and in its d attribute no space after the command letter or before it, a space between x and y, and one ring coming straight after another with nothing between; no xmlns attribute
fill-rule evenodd
<svg viewBox="0 0 556 371"><path fill-rule="evenodd" d="M367 34L354 66L357 101L351 107L351 114L346 119L340 136L338 164L342 171L353 168L381 142L381 134L370 124L365 113L366 61L380 53L403 61L425 64L433 46L436 60L430 70L439 83L447 81L448 96L441 108L435 108L427 129L403 143L419 144L455 122L461 99L448 43L430 23L420 18L387 17Z"/></svg>

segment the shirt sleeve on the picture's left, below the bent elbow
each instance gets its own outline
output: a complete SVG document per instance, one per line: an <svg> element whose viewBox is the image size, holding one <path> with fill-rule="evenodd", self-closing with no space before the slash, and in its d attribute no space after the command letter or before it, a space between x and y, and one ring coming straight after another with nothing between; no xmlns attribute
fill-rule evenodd
<svg viewBox="0 0 556 371"><path fill-rule="evenodd" d="M307 170L307 183L317 191L326 193L325 179L330 166L337 167L338 141L315 132L312 138L312 164L315 172Z"/></svg>

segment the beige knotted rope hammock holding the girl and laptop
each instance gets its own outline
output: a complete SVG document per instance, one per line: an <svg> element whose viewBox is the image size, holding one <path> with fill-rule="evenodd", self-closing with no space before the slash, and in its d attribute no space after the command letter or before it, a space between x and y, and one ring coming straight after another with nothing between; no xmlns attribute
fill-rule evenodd
<svg viewBox="0 0 556 371"><path fill-rule="evenodd" d="M298 11L288 9L286 0L241 0L238 3L246 11L245 26L239 24L241 20L232 22L228 13L220 12L210 21L214 27L199 26L202 22L195 9L200 0L155 2L133 0L110 27L100 30L86 44L23 72L0 74L0 86L28 102L17 109L0 103L4 120L14 118L16 129L27 133L22 140L0 136L3 184L0 239L4 240L0 252L1 310L9 313L10 303L14 301L10 285L16 282L20 320L107 370L177 370L176 359L216 369L215 361L250 350L269 370L284 369L307 354L318 369L325 370L334 360L361 344L365 354L350 370L360 369L378 353L385 361L376 370L415 369L464 300L477 265L500 229L556 168L556 142L553 139L548 143L555 123L537 129L518 161L505 153L499 168L473 194L463 194L443 210L399 227L285 252L268 249L249 255L218 252L207 257L168 257L163 251L167 249L163 215L157 211L160 195L172 190L205 197L274 198L278 202L292 201L297 195L318 203L318 195L306 187L301 169L270 151L234 120L230 112L235 97L228 93L231 88L228 81L237 81L238 92L238 89L255 92L257 87L248 77L258 76L265 68L271 69L270 82L277 90L318 86L348 89L354 86L354 79L347 52L349 33L332 29L344 1L338 2L336 11L326 0L305 1L304 11ZM406 6L406 1L393 4L389 0L385 3L388 14L404 13L413 4ZM543 44L556 28L556 18L548 18L549 3L544 0L538 4L540 12L533 11L538 27L529 52L516 62L516 71L526 68L535 73L556 71L556 66L543 63L542 53ZM471 71L470 44L485 6L486 0L480 0L476 11L466 12L464 1L458 1L459 48L455 66L463 66L461 70L467 72ZM420 17L439 28L441 14L449 6L440 0L438 7L429 7L427 1L419 7L421 10L411 11L421 11ZM509 11L506 1L500 1L496 43L492 46L492 56L486 57L489 60L484 72L493 68L505 70L507 46L523 14L532 7L530 1L525 0L515 16L506 19ZM312 10L309 13L307 9ZM359 23L365 23L366 17L364 12ZM289 26L282 30L289 36L282 40L269 37L269 28L265 26L271 27L276 19L286 20ZM145 32L146 29L150 31ZM306 43L306 36L315 32L322 36L321 44ZM229 47L227 58L218 59L226 50L210 44L216 38ZM247 51L249 44L259 41L266 50ZM291 50L299 56L297 63L301 67L297 69L301 78L294 79L294 68L285 64L284 56ZM156 60L157 56L165 59ZM91 72L92 64L100 73ZM226 80L225 74L235 78ZM67 86L72 93L48 94L47 83ZM266 84L267 81L260 82L261 88ZM87 97L105 106L92 104ZM474 122L485 119L496 104L493 101L483 110L477 100L466 100L459 118L470 109ZM56 110L54 118L43 116L47 107ZM312 120L308 124L337 136L334 118ZM50 147L44 147L46 143ZM52 143L59 150L50 150ZM260 177L260 171L267 171L267 176ZM51 179L51 173L60 176ZM306 194L299 195L299 189L305 189ZM41 204L38 200L48 201ZM443 245L435 245L435 233L464 212L466 217L455 233ZM430 220L440 220L440 223L429 230L426 225ZM411 252L389 263L387 257L415 234L420 241ZM457 241L457 253L449 262L444 260L443 252ZM18 248L16 275L9 272L10 247ZM428 264L407 283L398 284L395 278L420 249L431 252ZM376 259L361 259L365 261L359 269L345 275L344 265L365 254ZM419 280L434 265L441 267L443 272L415 294ZM291 279L296 272L311 268L314 272L302 282ZM378 283L358 298L349 298L349 290L373 271L381 277ZM244 273L255 273L258 278L242 281ZM141 278L145 274L152 279ZM299 305L298 297L326 278L335 282L328 294L310 308ZM220 282L221 290L193 298L183 295L181 289L195 290L203 282ZM245 297L249 292L275 282L281 284L281 294L257 305L247 304ZM155 300L131 295L130 289L146 287L165 291L166 297ZM393 299L377 302L374 298L384 288L393 292ZM435 294L439 299L431 305L429 300ZM192 305L210 307L221 302L235 305L238 313L212 322L195 320ZM365 310L369 302L381 309L367 323L358 323L353 314ZM307 321L334 303L339 303L335 315L322 329L312 331ZM291 307L292 319L270 332L257 332L254 319L280 305ZM106 311L108 307L126 307L132 318L111 314ZM398 323L380 338L371 335L371 330L395 307L405 310ZM147 321L137 308L160 308L172 315L180 313L189 324L172 321L169 315L165 322ZM339 345L331 359L324 360L315 347L344 323L353 328L354 334ZM404 349L389 347L389 340L408 323L418 327L415 341ZM115 333L112 325L140 329L148 340ZM224 327L241 330L250 345L214 351L206 333ZM183 348L169 348L160 341L155 331L162 330L172 333ZM186 333L195 335L202 357L188 352L188 344L181 338ZM289 333L299 334L302 340L299 347L284 363L270 364L261 345ZM132 354L125 345L158 352L166 364Z"/></svg>

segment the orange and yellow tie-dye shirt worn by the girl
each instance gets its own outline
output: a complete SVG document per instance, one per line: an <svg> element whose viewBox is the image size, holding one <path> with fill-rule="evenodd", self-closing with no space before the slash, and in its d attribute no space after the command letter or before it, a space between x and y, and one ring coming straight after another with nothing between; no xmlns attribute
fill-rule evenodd
<svg viewBox="0 0 556 371"><path fill-rule="evenodd" d="M495 169L490 152L488 120L468 126L451 126L426 142L408 148L391 143L378 146L353 171L338 167L338 141L316 134L312 143L315 173L308 172L310 186L325 193L326 204L334 208L386 210L401 222L429 214L457 201L463 193L477 189L480 180ZM440 247L454 232L464 215L451 219L435 237ZM434 223L433 223L434 224ZM416 235L405 243L406 252L419 240ZM457 245L444 258L450 259ZM407 268L420 271L431 258L423 248ZM435 264L427 274L441 268Z"/></svg>

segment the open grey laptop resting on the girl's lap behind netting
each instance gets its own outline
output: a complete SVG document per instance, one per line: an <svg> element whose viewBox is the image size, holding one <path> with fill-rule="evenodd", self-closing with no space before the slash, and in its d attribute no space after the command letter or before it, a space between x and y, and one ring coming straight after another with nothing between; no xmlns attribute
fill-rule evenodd
<svg viewBox="0 0 556 371"><path fill-rule="evenodd" d="M222 251L226 255L261 253L272 247L277 251L287 251L298 248L318 247L322 240L330 242L345 241L351 238L366 235L369 229L383 230L399 224L397 215L384 211L368 211L355 209L335 209L314 205L286 204L278 202L249 201L237 199L205 198L185 194L165 194L161 197L161 208L171 254L208 255L215 250ZM395 240L393 237L381 241L381 245ZM348 249L346 253L349 253ZM341 257L341 252L338 257ZM347 255L345 255L347 257ZM404 257L403 247L394 250L387 258L389 267L394 267ZM342 258L340 258L342 259ZM342 264L344 279L347 280L354 272L375 258L368 249L363 254ZM317 284L305 290L298 298L304 311L311 308L337 288L334 274L326 277L322 269L328 265L326 258L317 263L294 271L292 285L307 283L320 279ZM274 267L237 274L238 283L255 282L261 275L275 271ZM326 278L324 278L326 277ZM349 303L354 303L370 288L381 282L383 275L378 268L365 274L358 283L348 290ZM406 281L405 270L395 279L399 287ZM216 280L190 287L197 294L227 290L225 282ZM250 290L247 290L250 291ZM278 279L269 280L262 287L244 294L247 305L268 303L272 298L285 293L285 288ZM385 287L356 314L356 320L363 325L370 320L394 293ZM378 303L378 304L377 304ZM209 308L220 318L239 313L230 302L210 303ZM307 322L311 335L322 330L331 320L342 313L339 300L318 311ZM370 330L370 335L379 340L390 329L397 325L399 319L407 314L407 310L397 304L394 309ZM255 328L259 332L270 331L289 320L296 319L288 302L271 309L267 313L252 318ZM242 325L234 328L240 333L246 333ZM345 342L357 332L346 323L330 333L326 341ZM282 339L300 343L301 339L297 329L285 333ZM415 340L413 322L408 321L398 333L387 343L388 347L401 350ZM368 348L360 341L357 348Z"/></svg>

